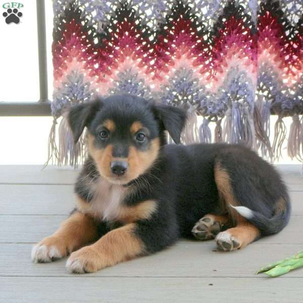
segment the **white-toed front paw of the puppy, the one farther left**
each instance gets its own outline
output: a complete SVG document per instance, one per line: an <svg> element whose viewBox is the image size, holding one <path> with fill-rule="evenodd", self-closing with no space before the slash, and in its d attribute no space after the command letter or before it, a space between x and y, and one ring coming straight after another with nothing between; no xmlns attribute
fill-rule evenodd
<svg viewBox="0 0 303 303"><path fill-rule="evenodd" d="M52 262L66 255L66 248L56 237L46 237L32 248L31 258L35 263Z"/></svg>

